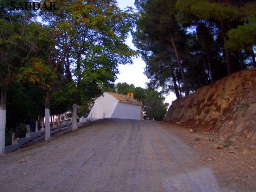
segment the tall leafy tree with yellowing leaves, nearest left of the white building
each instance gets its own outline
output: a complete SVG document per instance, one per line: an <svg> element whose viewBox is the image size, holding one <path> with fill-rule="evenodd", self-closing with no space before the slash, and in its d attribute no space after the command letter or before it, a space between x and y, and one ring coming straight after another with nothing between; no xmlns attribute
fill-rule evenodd
<svg viewBox="0 0 256 192"><path fill-rule="evenodd" d="M135 54L125 43L132 29L131 10L121 11L115 0L58 1L59 12L42 17L56 28L68 45L64 73L73 86L73 130L81 99L100 94L114 82L118 64L132 63Z"/></svg>

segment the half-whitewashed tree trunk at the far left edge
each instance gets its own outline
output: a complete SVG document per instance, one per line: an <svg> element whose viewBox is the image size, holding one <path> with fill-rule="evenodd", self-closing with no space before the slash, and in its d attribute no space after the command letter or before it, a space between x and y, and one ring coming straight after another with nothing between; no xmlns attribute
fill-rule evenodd
<svg viewBox="0 0 256 192"><path fill-rule="evenodd" d="M7 97L7 86L6 87L1 87L1 100L0 100L0 154L4 153L4 146L5 146L6 97Z"/></svg>

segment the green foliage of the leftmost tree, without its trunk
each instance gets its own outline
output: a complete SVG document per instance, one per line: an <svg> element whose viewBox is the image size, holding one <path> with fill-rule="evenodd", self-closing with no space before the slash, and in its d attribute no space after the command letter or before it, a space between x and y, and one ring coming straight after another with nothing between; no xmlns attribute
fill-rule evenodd
<svg viewBox="0 0 256 192"><path fill-rule="evenodd" d="M0 19L0 62L2 63L2 84L18 77L30 55L36 51L34 24L8 22Z"/></svg>

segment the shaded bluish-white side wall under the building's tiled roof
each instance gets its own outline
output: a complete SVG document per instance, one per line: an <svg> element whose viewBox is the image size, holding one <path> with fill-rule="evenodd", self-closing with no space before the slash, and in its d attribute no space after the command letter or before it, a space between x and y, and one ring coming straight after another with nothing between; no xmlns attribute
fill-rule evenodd
<svg viewBox="0 0 256 192"><path fill-rule="evenodd" d="M140 119L141 106L136 104L118 102L112 114L112 118Z"/></svg>

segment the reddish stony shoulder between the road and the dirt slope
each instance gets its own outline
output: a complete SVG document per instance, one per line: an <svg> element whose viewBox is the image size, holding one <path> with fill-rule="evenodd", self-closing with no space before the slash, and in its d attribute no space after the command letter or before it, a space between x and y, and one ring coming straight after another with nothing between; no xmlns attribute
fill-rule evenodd
<svg viewBox="0 0 256 192"><path fill-rule="evenodd" d="M162 123L172 134L200 152L196 161L201 166L211 166L218 184L225 192L254 192L256 189L256 146L242 138L229 143L223 149L214 145L225 144L221 136L198 132L174 124Z"/></svg>

